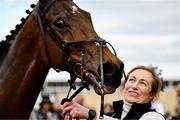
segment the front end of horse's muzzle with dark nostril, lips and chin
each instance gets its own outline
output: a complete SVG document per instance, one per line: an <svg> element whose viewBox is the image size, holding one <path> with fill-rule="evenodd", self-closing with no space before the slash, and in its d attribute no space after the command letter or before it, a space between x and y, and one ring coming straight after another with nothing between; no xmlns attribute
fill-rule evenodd
<svg viewBox="0 0 180 120"><path fill-rule="evenodd" d="M91 84L94 87L95 92L98 95L102 94L112 94L116 91L121 84L121 79L123 76L124 64L116 65L111 62L103 64L103 78L104 82L102 84L101 80L101 70L98 67L98 73L89 73L88 76L91 80ZM103 88L103 90L102 90Z"/></svg>

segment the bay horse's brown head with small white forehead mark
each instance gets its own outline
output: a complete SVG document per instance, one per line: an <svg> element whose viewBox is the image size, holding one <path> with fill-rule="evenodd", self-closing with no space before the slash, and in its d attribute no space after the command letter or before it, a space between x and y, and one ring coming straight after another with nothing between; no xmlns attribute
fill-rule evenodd
<svg viewBox="0 0 180 120"><path fill-rule="evenodd" d="M100 94L100 44L103 44L104 93L113 93L121 83L124 64L97 35L90 14L72 0L40 0L36 11L46 63L72 76L91 73L95 91Z"/></svg>

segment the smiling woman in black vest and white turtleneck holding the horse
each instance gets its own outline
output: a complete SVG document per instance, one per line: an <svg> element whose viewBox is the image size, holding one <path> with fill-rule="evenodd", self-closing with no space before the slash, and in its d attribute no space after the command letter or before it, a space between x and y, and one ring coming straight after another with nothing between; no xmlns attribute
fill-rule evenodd
<svg viewBox="0 0 180 120"><path fill-rule="evenodd" d="M158 98L161 80L152 68L137 66L130 70L123 87L123 100L113 102L114 112L104 115L104 120L165 120L151 111L151 102ZM99 119L99 115L74 102L64 104L65 120L71 118ZM93 113L93 114L92 114Z"/></svg>

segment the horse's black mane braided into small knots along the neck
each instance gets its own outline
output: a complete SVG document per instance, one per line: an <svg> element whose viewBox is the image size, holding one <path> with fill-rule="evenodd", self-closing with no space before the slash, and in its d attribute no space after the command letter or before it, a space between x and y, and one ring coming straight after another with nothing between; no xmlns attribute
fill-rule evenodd
<svg viewBox="0 0 180 120"><path fill-rule="evenodd" d="M31 8L34 8L34 7L35 7L35 5L32 4ZM8 50L9 50L13 40L15 40L16 35L19 33L21 28L26 23L26 20L28 19L28 17L31 14L31 12L29 10L26 10L26 13L28 14L28 16L26 18L21 18L21 23L17 24L15 26L15 29L10 31L10 35L6 35L6 39L2 40L0 42L0 56L6 55L6 53L8 52Z"/></svg>

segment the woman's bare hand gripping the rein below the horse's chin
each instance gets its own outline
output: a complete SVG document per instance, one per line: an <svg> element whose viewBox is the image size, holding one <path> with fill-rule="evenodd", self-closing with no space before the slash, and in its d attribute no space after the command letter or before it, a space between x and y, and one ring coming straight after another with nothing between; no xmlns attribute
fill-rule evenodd
<svg viewBox="0 0 180 120"><path fill-rule="evenodd" d="M75 102L65 102L63 105L63 112L65 114L64 120L70 119L87 119L89 117L89 109Z"/></svg>

